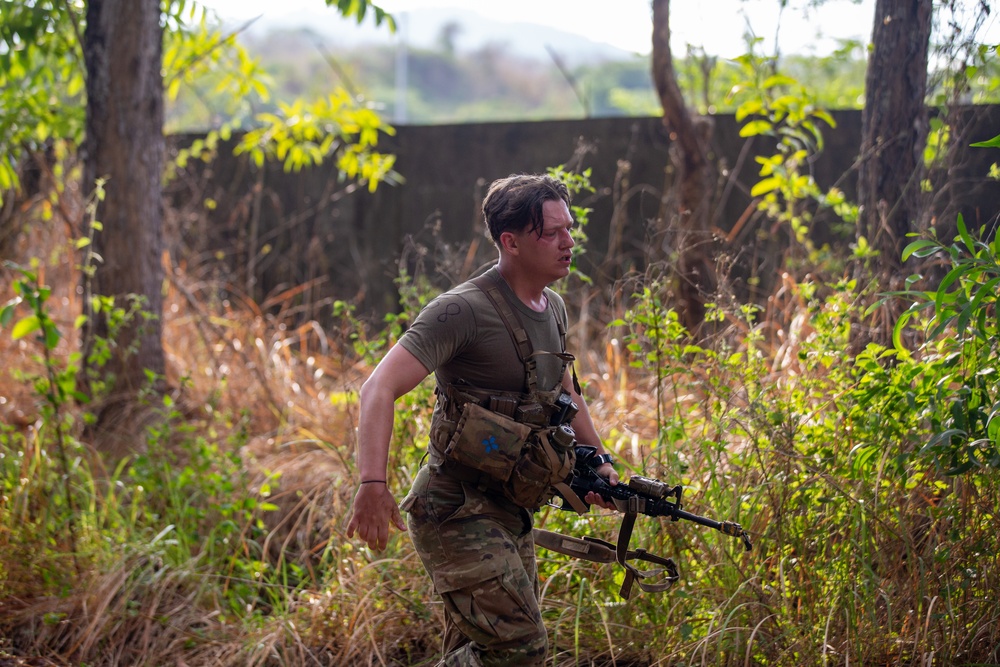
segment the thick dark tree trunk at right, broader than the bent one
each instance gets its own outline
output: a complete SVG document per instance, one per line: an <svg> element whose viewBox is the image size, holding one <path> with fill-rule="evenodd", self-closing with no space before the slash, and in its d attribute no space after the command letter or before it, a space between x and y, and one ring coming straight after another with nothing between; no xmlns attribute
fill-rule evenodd
<svg viewBox="0 0 1000 667"><path fill-rule="evenodd" d="M877 0L865 80L858 172L858 236L881 254L883 285L902 269L920 218L927 141L931 0Z"/></svg>

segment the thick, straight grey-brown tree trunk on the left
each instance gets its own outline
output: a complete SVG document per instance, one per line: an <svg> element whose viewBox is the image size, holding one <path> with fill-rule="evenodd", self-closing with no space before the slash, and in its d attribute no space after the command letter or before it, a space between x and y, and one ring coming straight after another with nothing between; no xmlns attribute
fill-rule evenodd
<svg viewBox="0 0 1000 667"><path fill-rule="evenodd" d="M137 317L109 331L103 314L91 315L84 349L95 336L113 340L111 359L89 368L110 382L109 404L131 402L147 384L146 370L164 373L161 315L163 238L161 185L164 161L163 35L159 0L90 0L83 40L87 69L87 125L83 186L107 179L97 209L103 231L94 234L99 256L93 294L112 296L127 307L141 295L151 318ZM86 280L86 279L85 279Z"/></svg>

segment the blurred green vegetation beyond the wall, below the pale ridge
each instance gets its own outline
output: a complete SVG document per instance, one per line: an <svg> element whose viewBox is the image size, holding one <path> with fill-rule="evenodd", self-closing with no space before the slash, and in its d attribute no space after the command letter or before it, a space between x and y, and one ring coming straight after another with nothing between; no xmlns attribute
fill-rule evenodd
<svg viewBox="0 0 1000 667"><path fill-rule="evenodd" d="M402 111L396 108L395 46L338 47L324 44L309 30L247 34L241 43L272 75L274 101L289 104L298 98L319 98L329 92L334 78L352 94L380 104L387 114L398 117ZM863 45L845 43L830 56L788 56L781 68L810 82L817 105L859 108L866 58ZM735 109L728 93L743 80L737 63L689 48L675 59L675 67L685 98L699 113ZM410 123L578 118L588 112L593 117L662 113L649 58L639 54L561 72L549 59L525 67L519 56L500 45L456 53L445 39L432 49L408 48L407 70L405 117ZM231 99L216 99L207 87L199 90L197 97L182 93L168 109L171 127L211 127L213 108L218 109L215 114L228 117L222 110ZM270 110L268 103L259 108Z"/></svg>

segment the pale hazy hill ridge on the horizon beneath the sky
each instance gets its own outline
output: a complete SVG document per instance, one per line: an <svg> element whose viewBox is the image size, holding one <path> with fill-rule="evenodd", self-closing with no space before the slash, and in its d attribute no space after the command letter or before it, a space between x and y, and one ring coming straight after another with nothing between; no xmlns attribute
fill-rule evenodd
<svg viewBox="0 0 1000 667"><path fill-rule="evenodd" d="M503 46L515 56L551 61L548 47L567 64L574 66L627 60L634 55L610 44L594 42L548 26L523 21L496 21L471 10L419 9L397 14L396 19L399 32L393 35L384 26L376 28L371 20L366 19L359 26L352 20L341 18L333 10L317 8L296 12L294 16L272 18L266 25L254 24L248 32L255 37L262 37L272 30L308 28L337 48L353 48L365 44L389 45L400 38L405 38L414 47L435 48L441 45L445 28L453 24L453 45L456 51L463 53L487 45ZM636 45L636 52L648 51L648 44Z"/></svg>

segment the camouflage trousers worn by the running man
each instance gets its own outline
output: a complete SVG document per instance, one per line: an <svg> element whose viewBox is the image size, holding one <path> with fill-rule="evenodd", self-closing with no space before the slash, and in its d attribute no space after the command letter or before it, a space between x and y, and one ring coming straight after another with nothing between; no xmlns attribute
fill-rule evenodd
<svg viewBox="0 0 1000 667"><path fill-rule="evenodd" d="M531 514L424 466L403 501L410 537L444 600L439 666L542 665Z"/></svg>

